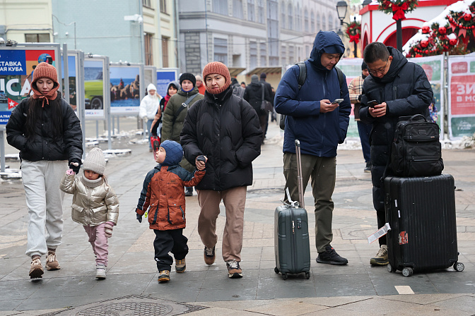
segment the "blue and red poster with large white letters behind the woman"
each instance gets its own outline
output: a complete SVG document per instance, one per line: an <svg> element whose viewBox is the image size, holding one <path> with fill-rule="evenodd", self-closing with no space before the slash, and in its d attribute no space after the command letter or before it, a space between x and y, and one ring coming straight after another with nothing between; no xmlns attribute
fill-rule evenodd
<svg viewBox="0 0 475 316"><path fill-rule="evenodd" d="M33 71L43 61L57 67L55 47L0 47L0 127L31 92ZM57 67L58 68L58 67Z"/></svg>

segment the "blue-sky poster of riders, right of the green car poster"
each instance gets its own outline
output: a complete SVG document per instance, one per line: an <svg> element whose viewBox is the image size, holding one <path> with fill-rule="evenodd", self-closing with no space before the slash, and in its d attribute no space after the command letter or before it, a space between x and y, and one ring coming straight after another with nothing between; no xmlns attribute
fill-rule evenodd
<svg viewBox="0 0 475 316"><path fill-rule="evenodd" d="M110 66L110 113L138 115L140 67Z"/></svg>

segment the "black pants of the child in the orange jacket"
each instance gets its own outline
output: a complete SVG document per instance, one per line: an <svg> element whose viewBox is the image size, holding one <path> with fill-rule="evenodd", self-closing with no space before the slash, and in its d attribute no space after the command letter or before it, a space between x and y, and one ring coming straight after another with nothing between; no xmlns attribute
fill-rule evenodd
<svg viewBox="0 0 475 316"><path fill-rule="evenodd" d="M188 238L183 236L183 229L171 229L168 231L159 231L153 229L155 233L155 261L158 271L172 269L173 258L168 255L172 253L176 260L183 260L188 253Z"/></svg>

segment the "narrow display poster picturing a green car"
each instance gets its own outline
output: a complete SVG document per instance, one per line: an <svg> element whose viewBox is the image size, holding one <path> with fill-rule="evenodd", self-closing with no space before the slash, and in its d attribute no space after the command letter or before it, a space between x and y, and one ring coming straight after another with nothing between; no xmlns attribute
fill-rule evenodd
<svg viewBox="0 0 475 316"><path fill-rule="evenodd" d="M84 61L84 97L86 98L86 119L105 119L104 110L104 61Z"/></svg>

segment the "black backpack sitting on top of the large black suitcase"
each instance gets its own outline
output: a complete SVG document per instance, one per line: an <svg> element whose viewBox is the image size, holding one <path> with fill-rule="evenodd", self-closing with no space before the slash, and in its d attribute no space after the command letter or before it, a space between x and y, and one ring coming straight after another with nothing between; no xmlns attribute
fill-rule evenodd
<svg viewBox="0 0 475 316"><path fill-rule="evenodd" d="M404 116L397 122L390 167L395 176L436 176L442 173L439 126L421 114Z"/></svg>

